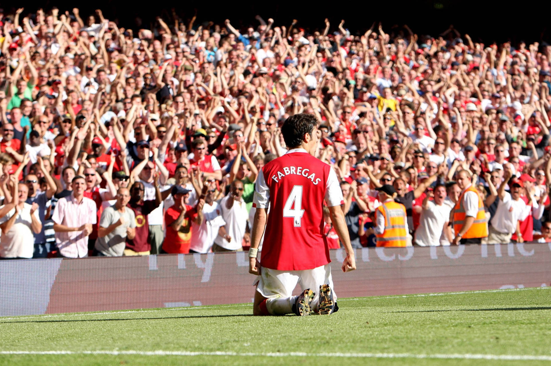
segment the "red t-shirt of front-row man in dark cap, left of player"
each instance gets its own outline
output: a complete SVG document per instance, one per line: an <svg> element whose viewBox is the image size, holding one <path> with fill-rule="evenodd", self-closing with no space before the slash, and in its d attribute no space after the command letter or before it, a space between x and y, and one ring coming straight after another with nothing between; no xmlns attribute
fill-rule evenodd
<svg viewBox="0 0 551 366"><path fill-rule="evenodd" d="M191 223L197 217L195 207L186 205L186 214L179 231L175 231L170 225L180 216L177 205L169 207L165 212L166 236L163 242L163 250L166 253L190 253Z"/></svg>

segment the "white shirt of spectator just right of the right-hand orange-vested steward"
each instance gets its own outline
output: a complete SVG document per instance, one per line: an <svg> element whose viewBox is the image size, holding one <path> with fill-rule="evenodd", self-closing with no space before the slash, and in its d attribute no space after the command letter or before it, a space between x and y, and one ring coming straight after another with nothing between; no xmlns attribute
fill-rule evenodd
<svg viewBox="0 0 551 366"><path fill-rule="evenodd" d="M530 214L532 207L524 203L520 198L514 200L509 192L505 192L503 200L500 199L498 208L491 218L491 226L503 234L512 234L516 231L517 221L523 221Z"/></svg>

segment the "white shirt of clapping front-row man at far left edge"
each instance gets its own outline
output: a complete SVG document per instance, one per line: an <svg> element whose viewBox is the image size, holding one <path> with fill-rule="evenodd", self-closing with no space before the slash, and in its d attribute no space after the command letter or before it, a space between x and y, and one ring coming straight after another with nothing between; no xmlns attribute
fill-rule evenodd
<svg viewBox="0 0 551 366"><path fill-rule="evenodd" d="M6 216L0 218L0 224L8 221L13 215L15 215L15 207ZM37 221L40 221L38 210L34 211L33 215ZM34 236L31 222L31 205L25 203L10 230L2 232L0 238L2 258L33 258Z"/></svg>

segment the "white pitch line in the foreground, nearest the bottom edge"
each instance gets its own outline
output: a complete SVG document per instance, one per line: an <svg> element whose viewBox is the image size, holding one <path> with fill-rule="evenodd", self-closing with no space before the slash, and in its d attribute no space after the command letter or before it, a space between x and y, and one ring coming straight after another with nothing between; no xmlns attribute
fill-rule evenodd
<svg viewBox="0 0 551 366"><path fill-rule="evenodd" d="M245 356L245 357L342 357L342 358L431 358L431 359L487 359L487 360L523 360L551 361L551 356L530 354L472 354L472 353L306 353L306 352L190 352L190 351L0 351L0 354L109 354L112 356Z"/></svg>

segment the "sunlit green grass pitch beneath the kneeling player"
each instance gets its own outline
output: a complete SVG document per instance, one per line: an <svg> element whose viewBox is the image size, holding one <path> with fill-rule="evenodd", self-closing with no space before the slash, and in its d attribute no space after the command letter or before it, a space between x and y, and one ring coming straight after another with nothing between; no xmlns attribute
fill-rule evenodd
<svg viewBox="0 0 551 366"><path fill-rule="evenodd" d="M250 304L0 318L0 365L548 365L550 298L339 299L337 313L301 318L251 316Z"/></svg>

